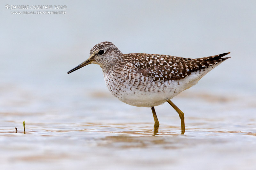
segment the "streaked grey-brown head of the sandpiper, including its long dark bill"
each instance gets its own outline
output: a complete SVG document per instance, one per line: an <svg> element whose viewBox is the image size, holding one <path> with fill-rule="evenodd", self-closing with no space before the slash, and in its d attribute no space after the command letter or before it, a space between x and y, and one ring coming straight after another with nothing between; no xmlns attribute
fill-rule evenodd
<svg viewBox="0 0 256 170"><path fill-rule="evenodd" d="M90 57L83 63L68 71L72 73L88 64L98 64L101 68L109 68L115 66L123 58L121 51L112 42L101 42L95 45L90 51Z"/></svg>

